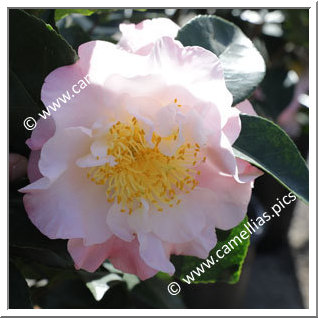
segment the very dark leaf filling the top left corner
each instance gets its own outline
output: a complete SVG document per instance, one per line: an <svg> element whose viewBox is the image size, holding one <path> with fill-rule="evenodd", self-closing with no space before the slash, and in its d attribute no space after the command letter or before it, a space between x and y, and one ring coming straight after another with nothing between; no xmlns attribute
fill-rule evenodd
<svg viewBox="0 0 318 318"><path fill-rule="evenodd" d="M10 70L42 106L45 77L60 66L75 63L76 52L51 27L22 10L9 11L9 30Z"/></svg>

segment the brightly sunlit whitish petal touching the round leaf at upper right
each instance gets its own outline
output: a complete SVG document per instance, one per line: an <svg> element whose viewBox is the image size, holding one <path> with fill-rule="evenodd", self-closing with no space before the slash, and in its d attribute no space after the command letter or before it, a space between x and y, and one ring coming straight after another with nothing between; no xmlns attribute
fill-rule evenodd
<svg viewBox="0 0 318 318"><path fill-rule="evenodd" d="M233 98L225 86L222 65L212 52L198 46L183 47L163 37L149 58L153 72L163 76L167 84L188 89L202 101L213 102L220 111L231 106Z"/></svg>

